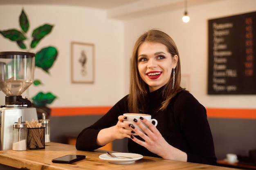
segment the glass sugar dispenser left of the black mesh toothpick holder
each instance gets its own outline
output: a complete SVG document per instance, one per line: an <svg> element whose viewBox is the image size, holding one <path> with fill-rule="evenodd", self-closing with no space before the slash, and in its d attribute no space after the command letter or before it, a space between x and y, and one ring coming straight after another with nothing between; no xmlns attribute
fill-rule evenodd
<svg viewBox="0 0 256 170"><path fill-rule="evenodd" d="M22 116L18 118L18 123L13 124L13 144L12 150L27 150L27 125L22 123Z"/></svg>

